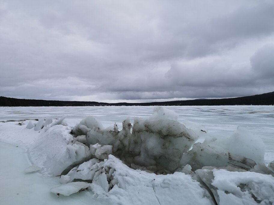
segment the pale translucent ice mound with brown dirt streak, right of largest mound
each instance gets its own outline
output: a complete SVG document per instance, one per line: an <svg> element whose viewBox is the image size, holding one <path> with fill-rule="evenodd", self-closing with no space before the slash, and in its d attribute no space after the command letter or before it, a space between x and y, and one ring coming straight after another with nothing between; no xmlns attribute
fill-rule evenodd
<svg viewBox="0 0 274 205"><path fill-rule="evenodd" d="M180 165L189 164L195 171L203 166L233 167L250 170L256 163L264 163L265 145L245 128L238 127L228 138L207 137L196 143L182 156Z"/></svg>

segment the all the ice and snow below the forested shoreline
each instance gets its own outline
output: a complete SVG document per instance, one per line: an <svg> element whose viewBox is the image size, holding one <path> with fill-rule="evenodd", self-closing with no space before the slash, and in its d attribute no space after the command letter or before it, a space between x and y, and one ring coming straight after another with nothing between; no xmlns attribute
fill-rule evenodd
<svg viewBox="0 0 274 205"><path fill-rule="evenodd" d="M0 204L274 204L273 108L0 107Z"/></svg>

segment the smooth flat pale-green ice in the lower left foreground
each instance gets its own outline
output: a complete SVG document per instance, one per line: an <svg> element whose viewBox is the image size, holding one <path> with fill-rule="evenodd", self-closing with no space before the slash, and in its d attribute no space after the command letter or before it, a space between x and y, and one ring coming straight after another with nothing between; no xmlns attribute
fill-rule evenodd
<svg viewBox="0 0 274 205"><path fill-rule="evenodd" d="M20 129L15 126L14 129ZM33 129L22 129L24 137L26 133L32 135L33 139L37 132ZM19 136L19 135L18 135ZM52 194L49 189L59 184L59 177L43 176L40 173L25 174L24 168L28 167L29 160L26 150L15 145L0 142L0 159L1 159L1 183L0 183L0 204L1 205L109 205L108 200L100 200L92 196L92 192L78 192L69 197L63 195L57 196Z"/></svg>

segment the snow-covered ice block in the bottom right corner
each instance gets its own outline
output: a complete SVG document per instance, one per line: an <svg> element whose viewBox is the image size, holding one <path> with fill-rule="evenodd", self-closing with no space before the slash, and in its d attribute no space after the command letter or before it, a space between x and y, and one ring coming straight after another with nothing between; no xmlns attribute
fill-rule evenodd
<svg viewBox="0 0 274 205"><path fill-rule="evenodd" d="M274 178L255 172L199 169L217 204L274 204Z"/></svg>

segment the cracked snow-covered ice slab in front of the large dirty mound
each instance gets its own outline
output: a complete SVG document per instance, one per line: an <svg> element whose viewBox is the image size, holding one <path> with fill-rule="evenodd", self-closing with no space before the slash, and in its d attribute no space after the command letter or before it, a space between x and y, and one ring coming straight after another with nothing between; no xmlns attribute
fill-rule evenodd
<svg viewBox="0 0 274 205"><path fill-rule="evenodd" d="M100 198L111 199L112 204L214 204L209 192L190 175L133 170L113 155L102 162L90 159L72 168L61 176L60 183L73 180L92 181L90 189Z"/></svg>

